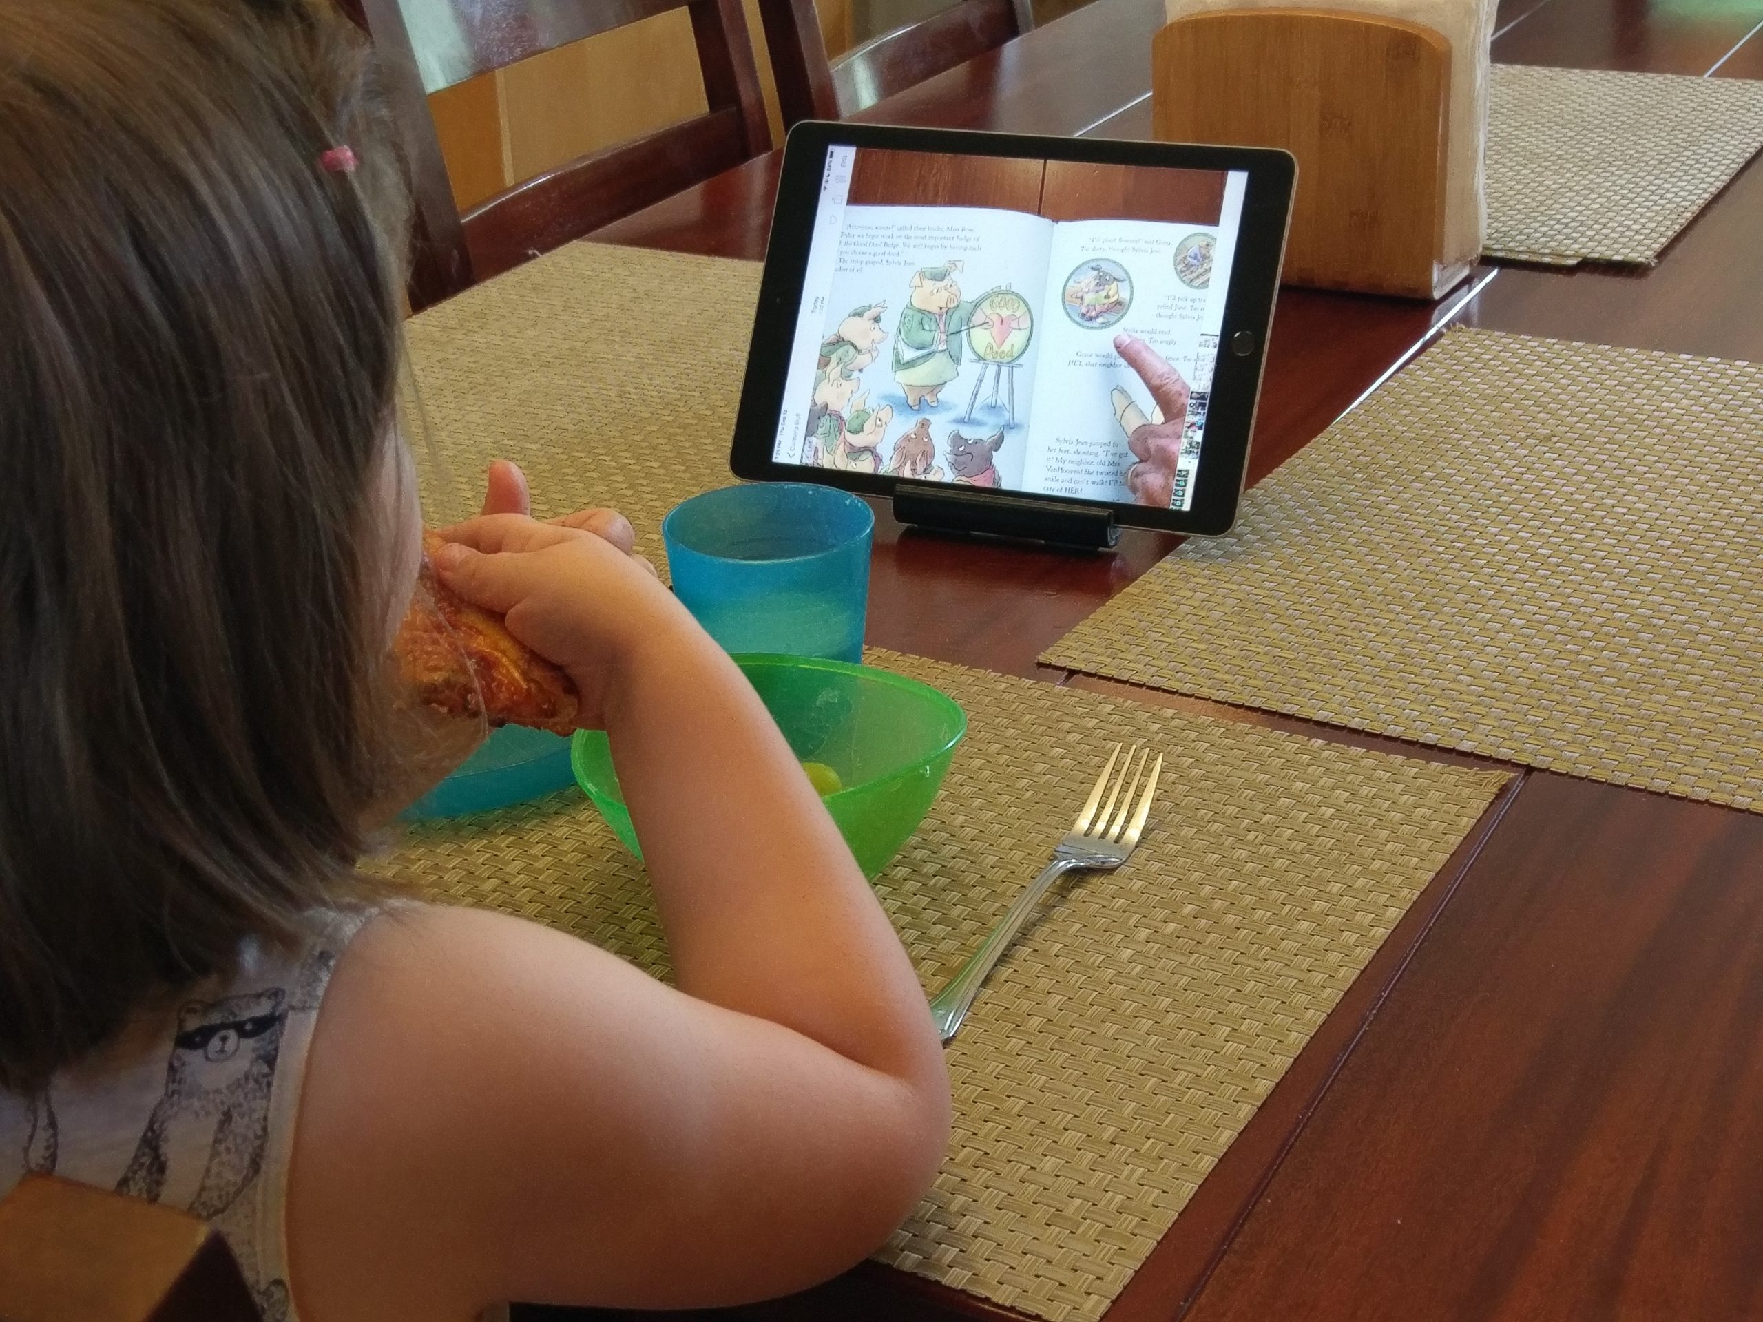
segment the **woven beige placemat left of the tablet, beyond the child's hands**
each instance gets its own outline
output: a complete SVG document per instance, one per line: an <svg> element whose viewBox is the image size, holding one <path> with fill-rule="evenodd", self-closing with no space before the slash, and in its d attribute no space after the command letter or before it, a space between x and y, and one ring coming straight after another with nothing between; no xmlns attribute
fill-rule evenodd
<svg viewBox="0 0 1763 1322"><path fill-rule="evenodd" d="M728 486L760 264L566 243L409 323L404 420L432 524L511 458L532 513L614 506L661 564L661 516Z"/></svg>

